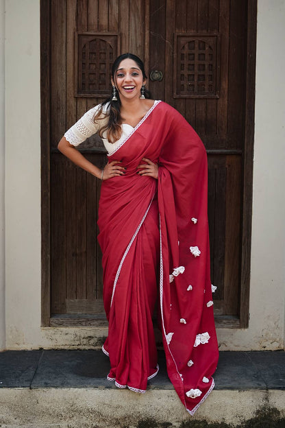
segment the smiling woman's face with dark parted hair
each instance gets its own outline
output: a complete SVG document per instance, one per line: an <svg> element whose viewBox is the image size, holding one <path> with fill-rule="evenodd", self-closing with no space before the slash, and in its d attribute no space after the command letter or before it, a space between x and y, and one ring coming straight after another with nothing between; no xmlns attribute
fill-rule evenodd
<svg viewBox="0 0 285 428"><path fill-rule="evenodd" d="M112 84L119 91L119 96L125 99L140 97L140 88L145 84L143 73L138 64L130 58L121 61L114 75L115 81Z"/></svg>

